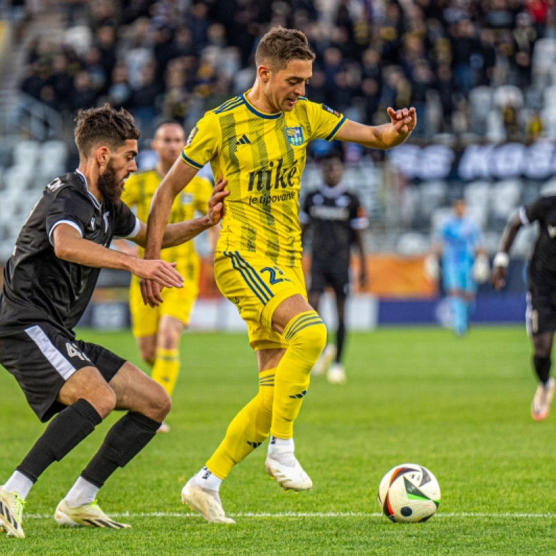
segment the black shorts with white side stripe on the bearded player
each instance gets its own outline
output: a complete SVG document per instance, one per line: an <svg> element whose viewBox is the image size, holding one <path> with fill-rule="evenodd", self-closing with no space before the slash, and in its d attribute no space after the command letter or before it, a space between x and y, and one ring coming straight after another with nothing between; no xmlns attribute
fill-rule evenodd
<svg viewBox="0 0 556 556"><path fill-rule="evenodd" d="M14 375L43 423L64 409L56 398L76 370L96 367L110 382L125 362L104 347L75 340L47 322L0 336L0 363Z"/></svg>

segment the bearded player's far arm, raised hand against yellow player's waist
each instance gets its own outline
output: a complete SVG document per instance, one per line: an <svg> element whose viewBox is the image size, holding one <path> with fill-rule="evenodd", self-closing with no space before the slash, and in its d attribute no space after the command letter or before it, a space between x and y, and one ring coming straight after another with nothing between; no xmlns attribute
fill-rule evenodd
<svg viewBox="0 0 556 556"><path fill-rule="evenodd" d="M224 191L227 183L227 180L218 178L211 198L208 199L208 210L205 215L200 218L177 222L176 224L168 224L164 231L161 247L164 249L165 247L174 247L174 245L186 243L186 241L195 238L202 231L218 224L224 212L224 197L227 197L230 193L229 191ZM138 234L131 238L131 241L145 247L146 239L147 225L141 222Z"/></svg>

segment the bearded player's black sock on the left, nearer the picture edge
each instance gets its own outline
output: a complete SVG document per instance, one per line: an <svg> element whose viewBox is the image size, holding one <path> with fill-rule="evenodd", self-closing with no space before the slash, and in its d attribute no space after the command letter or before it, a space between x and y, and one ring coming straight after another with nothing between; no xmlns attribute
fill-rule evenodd
<svg viewBox="0 0 556 556"><path fill-rule="evenodd" d="M60 461L101 422L98 411L87 400L77 400L50 421L17 471L36 482L50 464Z"/></svg>

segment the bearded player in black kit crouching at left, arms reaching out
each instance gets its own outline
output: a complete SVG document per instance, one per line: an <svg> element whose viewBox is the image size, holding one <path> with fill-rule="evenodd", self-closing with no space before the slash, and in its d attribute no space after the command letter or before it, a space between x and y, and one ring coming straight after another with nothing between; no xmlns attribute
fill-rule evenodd
<svg viewBox="0 0 556 556"><path fill-rule="evenodd" d="M181 287L171 263L108 249L113 236L145 245L146 225L120 201L124 179L137 167L139 130L126 111L108 105L81 111L75 140L79 169L54 181L28 216L4 268L0 295L0 363L27 402L49 425L0 487L0 529L24 537L23 505L41 473L60 461L113 411L128 412L108 431L97 454L56 508L59 525L121 529L95 501L118 468L145 448L170 411L164 389L128 361L77 340L74 326L100 268L129 270L167 287ZM222 215L225 181L206 217L168 226L167 247L211 227ZM53 417L54 416L54 417Z"/></svg>

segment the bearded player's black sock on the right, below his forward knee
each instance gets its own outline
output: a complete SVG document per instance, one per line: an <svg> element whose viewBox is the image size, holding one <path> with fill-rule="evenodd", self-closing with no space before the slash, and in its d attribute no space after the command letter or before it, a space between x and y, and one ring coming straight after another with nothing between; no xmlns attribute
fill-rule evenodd
<svg viewBox="0 0 556 556"><path fill-rule="evenodd" d="M131 411L125 414L108 431L81 477L100 488L118 467L126 465L145 448L160 426L161 423L143 414Z"/></svg>

